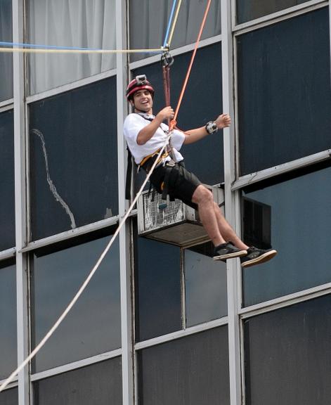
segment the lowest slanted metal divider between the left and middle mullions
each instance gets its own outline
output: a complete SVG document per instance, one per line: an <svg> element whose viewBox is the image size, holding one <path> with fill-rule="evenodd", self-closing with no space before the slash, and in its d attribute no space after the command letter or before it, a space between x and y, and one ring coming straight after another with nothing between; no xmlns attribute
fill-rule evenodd
<svg viewBox="0 0 331 405"><path fill-rule="evenodd" d="M99 363L100 361L113 359L114 357L122 356L122 349L112 350L111 352L97 354L96 356L89 357L87 359L74 361L64 366L50 368L46 371L40 371L31 375L31 381L42 380L43 378L52 377L53 375L66 373L67 371L77 370L85 366L91 366L92 364Z"/></svg>

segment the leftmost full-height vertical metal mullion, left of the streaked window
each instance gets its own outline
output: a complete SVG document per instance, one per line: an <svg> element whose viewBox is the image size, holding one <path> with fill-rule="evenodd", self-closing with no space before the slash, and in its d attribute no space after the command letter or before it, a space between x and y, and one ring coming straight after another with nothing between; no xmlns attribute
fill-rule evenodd
<svg viewBox="0 0 331 405"><path fill-rule="evenodd" d="M24 10L22 0L13 0L13 41L24 38ZM28 354L29 334L27 318L27 263L20 250L26 243L25 214L25 67L24 55L13 53L14 99L14 160L15 160L15 245L16 245L16 292L18 364ZM28 368L18 374L18 404L29 404L30 382Z"/></svg>

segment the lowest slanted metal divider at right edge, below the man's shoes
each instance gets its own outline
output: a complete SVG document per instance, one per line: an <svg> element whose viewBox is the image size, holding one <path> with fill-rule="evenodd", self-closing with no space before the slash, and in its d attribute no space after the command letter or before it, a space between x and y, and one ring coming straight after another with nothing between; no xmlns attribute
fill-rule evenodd
<svg viewBox="0 0 331 405"><path fill-rule="evenodd" d="M301 290L297 293L284 295L283 297L275 298L274 300L261 302L250 307L242 308L238 311L241 319L251 318L266 312L274 311L275 309L281 309L290 307L293 304L312 300L313 298L322 297L323 295L331 294L331 283L318 285L317 287L309 288L307 290Z"/></svg>

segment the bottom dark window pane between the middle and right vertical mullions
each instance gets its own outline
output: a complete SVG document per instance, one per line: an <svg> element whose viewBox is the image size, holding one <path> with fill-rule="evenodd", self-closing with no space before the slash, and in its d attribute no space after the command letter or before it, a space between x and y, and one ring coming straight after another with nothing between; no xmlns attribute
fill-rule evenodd
<svg viewBox="0 0 331 405"><path fill-rule="evenodd" d="M139 351L138 404L230 404L228 328Z"/></svg>

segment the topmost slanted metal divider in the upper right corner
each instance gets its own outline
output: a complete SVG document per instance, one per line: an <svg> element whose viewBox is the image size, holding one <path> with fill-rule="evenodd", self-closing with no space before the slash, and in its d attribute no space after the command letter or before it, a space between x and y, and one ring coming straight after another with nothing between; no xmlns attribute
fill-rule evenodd
<svg viewBox="0 0 331 405"><path fill-rule="evenodd" d="M264 15L264 17L255 20L247 21L233 27L235 35L245 34L246 32L258 30L259 28L266 27L280 21L287 20L292 17L297 17L309 11L317 10L318 8L327 6L328 1L325 0L311 0L297 6L285 8L285 10L277 11L276 13Z"/></svg>

